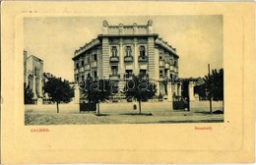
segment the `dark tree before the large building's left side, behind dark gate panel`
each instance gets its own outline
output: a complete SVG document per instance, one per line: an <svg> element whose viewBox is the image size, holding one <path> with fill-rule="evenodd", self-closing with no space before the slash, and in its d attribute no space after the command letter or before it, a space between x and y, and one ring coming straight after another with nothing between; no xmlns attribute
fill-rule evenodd
<svg viewBox="0 0 256 165"><path fill-rule="evenodd" d="M99 103L109 99L113 93L118 90L115 81L110 80L94 80L89 78L80 84L84 98L89 103L97 105L97 115L99 115Z"/></svg>

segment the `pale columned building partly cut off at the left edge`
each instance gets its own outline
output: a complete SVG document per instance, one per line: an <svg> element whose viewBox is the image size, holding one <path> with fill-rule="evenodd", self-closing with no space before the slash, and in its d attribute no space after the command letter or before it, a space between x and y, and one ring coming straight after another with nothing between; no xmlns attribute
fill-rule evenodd
<svg viewBox="0 0 256 165"><path fill-rule="evenodd" d="M34 100L43 97L42 79L43 61L33 55L28 56L28 52L24 51L24 83L32 89Z"/></svg>

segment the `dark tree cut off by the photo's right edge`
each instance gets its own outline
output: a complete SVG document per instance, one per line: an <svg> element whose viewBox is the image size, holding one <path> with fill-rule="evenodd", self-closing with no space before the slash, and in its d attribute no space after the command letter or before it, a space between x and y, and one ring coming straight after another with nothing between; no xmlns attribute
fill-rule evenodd
<svg viewBox="0 0 256 165"><path fill-rule="evenodd" d="M224 69L220 69L219 72L216 69L212 70L211 75L205 76L204 82L208 98L215 101L223 100L224 103Z"/></svg>

